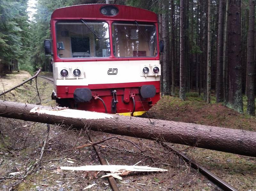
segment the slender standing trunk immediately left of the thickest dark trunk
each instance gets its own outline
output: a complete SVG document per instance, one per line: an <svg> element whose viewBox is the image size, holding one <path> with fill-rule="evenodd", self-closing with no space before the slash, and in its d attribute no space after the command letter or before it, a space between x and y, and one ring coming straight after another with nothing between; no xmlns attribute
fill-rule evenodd
<svg viewBox="0 0 256 191"><path fill-rule="evenodd" d="M229 0L226 3L226 15L225 15L225 30L224 30L224 48L223 48L223 101L227 102L228 99L228 75L227 75L227 47L228 47L228 7Z"/></svg>

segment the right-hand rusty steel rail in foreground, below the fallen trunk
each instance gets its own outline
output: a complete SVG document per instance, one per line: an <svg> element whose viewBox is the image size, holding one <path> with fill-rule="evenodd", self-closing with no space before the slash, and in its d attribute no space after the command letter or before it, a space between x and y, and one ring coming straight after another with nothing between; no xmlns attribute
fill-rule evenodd
<svg viewBox="0 0 256 191"><path fill-rule="evenodd" d="M183 158L183 160L186 163L189 163L194 169L198 170L200 173L202 173L205 177L208 178L208 180L211 180L214 184L216 184L218 187L220 187L223 190L228 190L228 191L238 191L236 188L232 187L229 185L227 182L224 180L220 179L207 169L205 169L202 165L199 165L196 161L190 159L187 155L183 154L182 152L178 151L172 146L169 146L167 143L161 142L161 145L166 147L168 150L172 151L175 155Z"/></svg>

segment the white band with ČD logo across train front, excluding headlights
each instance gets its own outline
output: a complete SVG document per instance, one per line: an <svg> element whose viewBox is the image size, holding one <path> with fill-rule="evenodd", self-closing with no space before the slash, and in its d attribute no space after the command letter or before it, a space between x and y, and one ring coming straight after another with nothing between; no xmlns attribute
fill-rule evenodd
<svg viewBox="0 0 256 191"><path fill-rule="evenodd" d="M160 69L157 75L153 73L155 66ZM142 73L144 67L150 69L147 77ZM63 69L69 72L66 79L60 76L60 71ZM82 74L78 78L73 75L73 70L75 69L81 70ZM161 66L159 60L53 63L55 86L160 81L160 75Z"/></svg>

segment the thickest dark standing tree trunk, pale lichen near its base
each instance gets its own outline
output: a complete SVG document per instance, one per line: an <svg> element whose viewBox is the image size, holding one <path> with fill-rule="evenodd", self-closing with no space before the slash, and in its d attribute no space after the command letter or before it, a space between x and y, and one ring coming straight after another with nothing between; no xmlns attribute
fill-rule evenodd
<svg viewBox="0 0 256 191"><path fill-rule="evenodd" d="M241 0L229 0L227 106L243 113L240 7Z"/></svg>

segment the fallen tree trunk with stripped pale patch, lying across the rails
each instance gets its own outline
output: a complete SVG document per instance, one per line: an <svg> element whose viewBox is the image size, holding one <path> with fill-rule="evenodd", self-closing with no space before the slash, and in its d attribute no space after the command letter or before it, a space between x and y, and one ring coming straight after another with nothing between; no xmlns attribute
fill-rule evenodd
<svg viewBox="0 0 256 191"><path fill-rule="evenodd" d="M256 157L256 132L0 101L0 116Z"/></svg>

